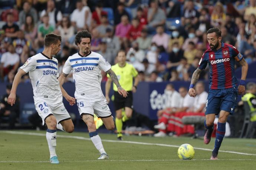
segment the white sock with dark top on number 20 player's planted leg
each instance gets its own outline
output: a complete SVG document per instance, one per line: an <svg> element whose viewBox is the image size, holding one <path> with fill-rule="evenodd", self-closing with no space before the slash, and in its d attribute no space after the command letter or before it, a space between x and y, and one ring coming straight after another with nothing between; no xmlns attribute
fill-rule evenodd
<svg viewBox="0 0 256 170"><path fill-rule="evenodd" d="M50 158L52 158L53 156L57 156L56 152L55 152L55 148L56 148L56 130L47 129L46 139L47 139L48 146L49 146Z"/></svg>

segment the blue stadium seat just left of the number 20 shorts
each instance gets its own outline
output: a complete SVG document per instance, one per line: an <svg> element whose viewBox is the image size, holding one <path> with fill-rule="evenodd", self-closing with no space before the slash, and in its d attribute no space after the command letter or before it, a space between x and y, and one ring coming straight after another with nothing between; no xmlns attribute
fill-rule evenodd
<svg viewBox="0 0 256 170"><path fill-rule="evenodd" d="M22 112L20 112L20 123L29 123L28 117L36 112L34 103L25 103Z"/></svg>

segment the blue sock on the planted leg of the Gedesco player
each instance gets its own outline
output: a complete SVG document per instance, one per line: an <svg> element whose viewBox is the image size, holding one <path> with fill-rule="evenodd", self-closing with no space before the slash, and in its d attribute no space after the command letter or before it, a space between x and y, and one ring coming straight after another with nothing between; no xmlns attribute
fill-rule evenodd
<svg viewBox="0 0 256 170"><path fill-rule="evenodd" d="M215 139L213 153L218 154L221 142L223 140L223 137L225 136L225 132L226 132L226 123L218 122L218 128L217 128L217 132L216 132L216 139Z"/></svg>

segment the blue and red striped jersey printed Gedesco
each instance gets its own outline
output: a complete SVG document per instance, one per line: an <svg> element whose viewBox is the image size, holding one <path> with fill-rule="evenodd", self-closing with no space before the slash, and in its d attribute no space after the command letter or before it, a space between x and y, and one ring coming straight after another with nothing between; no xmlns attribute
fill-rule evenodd
<svg viewBox="0 0 256 170"><path fill-rule="evenodd" d="M237 78L234 73L235 61L239 62L243 55L232 45L222 43L218 50L208 48L198 64L199 69L210 65L209 89L226 89L236 87Z"/></svg>

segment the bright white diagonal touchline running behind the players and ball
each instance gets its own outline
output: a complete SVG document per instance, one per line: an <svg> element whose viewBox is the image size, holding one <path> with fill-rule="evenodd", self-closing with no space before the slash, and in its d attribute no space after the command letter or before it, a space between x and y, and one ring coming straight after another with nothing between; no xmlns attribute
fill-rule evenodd
<svg viewBox="0 0 256 170"><path fill-rule="evenodd" d="M32 133L32 132L17 132L17 131L8 131L8 130L3 130L3 131L0 131L0 132L9 133L9 134L16 134L16 135L45 136L45 134L43 134L43 133ZM62 138L71 138L71 139L81 139L81 140L91 140L90 138L82 137L82 136L58 135L58 137L62 137ZM120 141L120 140L106 140L106 139L102 139L102 141L104 141L104 142L114 142L114 143L130 143L130 144L139 144L139 145L154 145L154 146L180 147L180 146L178 146L178 145L167 145L167 144L161 144L161 143L145 143L145 142ZM200 148L200 147L194 147L194 149L212 151L211 149L205 149L205 148ZM256 156L256 154L252 154L252 153L233 152L233 151L225 151L225 150L219 150L219 152L226 152L226 153L235 153L235 154L243 154L243 155L253 155L253 156Z"/></svg>

